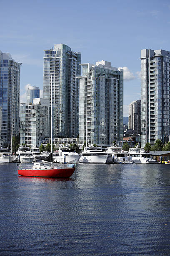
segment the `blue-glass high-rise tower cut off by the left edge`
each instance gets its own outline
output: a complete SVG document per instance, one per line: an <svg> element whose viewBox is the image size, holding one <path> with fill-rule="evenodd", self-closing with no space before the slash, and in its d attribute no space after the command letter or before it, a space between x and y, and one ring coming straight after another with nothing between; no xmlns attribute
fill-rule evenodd
<svg viewBox="0 0 170 256"><path fill-rule="evenodd" d="M9 53L0 51L1 136L4 147L10 148L12 136L20 131L20 66Z"/></svg>

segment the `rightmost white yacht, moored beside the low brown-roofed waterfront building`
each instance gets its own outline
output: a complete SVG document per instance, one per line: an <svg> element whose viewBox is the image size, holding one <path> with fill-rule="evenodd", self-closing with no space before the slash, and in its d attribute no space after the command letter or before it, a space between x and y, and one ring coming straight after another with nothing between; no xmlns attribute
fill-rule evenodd
<svg viewBox="0 0 170 256"><path fill-rule="evenodd" d="M151 158L151 154L144 151L143 148L130 148L127 156L131 156L136 164L155 164L157 161Z"/></svg>

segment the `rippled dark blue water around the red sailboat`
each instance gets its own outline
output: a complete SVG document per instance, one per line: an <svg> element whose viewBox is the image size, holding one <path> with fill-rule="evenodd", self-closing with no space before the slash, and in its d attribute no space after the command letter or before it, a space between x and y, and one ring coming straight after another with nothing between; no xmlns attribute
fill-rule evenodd
<svg viewBox="0 0 170 256"><path fill-rule="evenodd" d="M0 255L170 255L170 165L78 164L70 179L0 164Z"/></svg>

